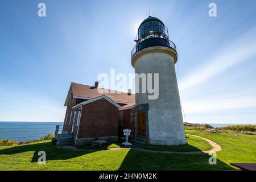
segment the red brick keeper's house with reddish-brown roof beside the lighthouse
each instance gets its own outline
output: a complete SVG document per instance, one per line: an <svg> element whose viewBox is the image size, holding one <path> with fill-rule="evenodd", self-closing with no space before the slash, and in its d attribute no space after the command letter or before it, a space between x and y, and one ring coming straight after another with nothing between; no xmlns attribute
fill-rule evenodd
<svg viewBox="0 0 256 182"><path fill-rule="evenodd" d="M89 144L94 139L117 141L123 129L130 129L132 137L135 133L135 94L110 91L98 88L98 82L94 86L72 82L65 100L67 111L63 130L59 134L66 139L59 138L57 143L67 144L67 138L68 143L75 146Z"/></svg>

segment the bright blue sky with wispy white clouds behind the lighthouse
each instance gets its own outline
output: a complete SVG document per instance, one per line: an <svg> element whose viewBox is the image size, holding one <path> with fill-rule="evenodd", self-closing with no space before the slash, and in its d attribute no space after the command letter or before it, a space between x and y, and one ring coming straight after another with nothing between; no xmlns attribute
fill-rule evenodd
<svg viewBox="0 0 256 182"><path fill-rule="evenodd" d="M38 16L40 2L46 17ZM212 2L216 17L208 15ZM253 0L3 0L0 121L63 122L71 82L93 85L112 68L134 73L131 49L150 11L177 47L184 121L256 123L255 7Z"/></svg>

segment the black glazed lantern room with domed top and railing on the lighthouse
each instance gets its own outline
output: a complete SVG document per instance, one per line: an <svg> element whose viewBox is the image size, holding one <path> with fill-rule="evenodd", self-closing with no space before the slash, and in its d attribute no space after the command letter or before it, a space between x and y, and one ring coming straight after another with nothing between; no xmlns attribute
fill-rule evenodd
<svg viewBox="0 0 256 182"><path fill-rule="evenodd" d="M131 56L152 46L170 47L176 51L175 44L169 40L168 28L160 19L152 16L144 19L139 26L135 42L136 46L131 51Z"/></svg>

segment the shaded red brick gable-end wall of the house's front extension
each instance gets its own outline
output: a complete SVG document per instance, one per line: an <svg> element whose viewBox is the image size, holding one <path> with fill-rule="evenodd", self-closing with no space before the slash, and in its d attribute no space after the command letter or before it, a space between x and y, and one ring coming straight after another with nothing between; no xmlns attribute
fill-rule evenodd
<svg viewBox="0 0 256 182"><path fill-rule="evenodd" d="M77 138L118 135L118 108L104 98L82 106Z"/></svg>

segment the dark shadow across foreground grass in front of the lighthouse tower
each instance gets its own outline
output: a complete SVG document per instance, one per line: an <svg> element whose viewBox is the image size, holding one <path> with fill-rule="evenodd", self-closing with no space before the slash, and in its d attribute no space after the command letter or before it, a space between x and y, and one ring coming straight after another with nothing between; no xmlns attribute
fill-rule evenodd
<svg viewBox="0 0 256 182"><path fill-rule="evenodd" d="M216 165L209 164L208 154L158 154L130 150L119 170L170 171L170 170L230 170L228 164L217 159Z"/></svg>

